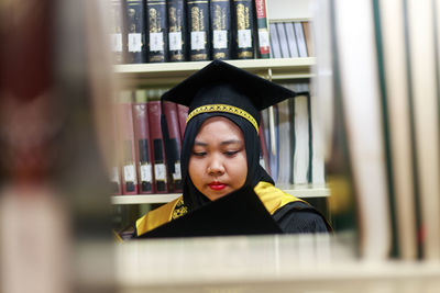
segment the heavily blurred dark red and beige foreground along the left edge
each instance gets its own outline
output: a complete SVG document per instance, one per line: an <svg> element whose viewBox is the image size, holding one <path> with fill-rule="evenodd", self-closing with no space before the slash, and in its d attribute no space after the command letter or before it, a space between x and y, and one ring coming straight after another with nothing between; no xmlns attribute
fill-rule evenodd
<svg viewBox="0 0 440 293"><path fill-rule="evenodd" d="M0 1L2 293L114 290L98 2Z"/></svg>

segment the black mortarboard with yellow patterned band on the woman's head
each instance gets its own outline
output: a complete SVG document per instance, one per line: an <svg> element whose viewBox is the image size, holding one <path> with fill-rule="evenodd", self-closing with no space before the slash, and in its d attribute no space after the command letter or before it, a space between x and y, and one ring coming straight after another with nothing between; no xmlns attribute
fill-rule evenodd
<svg viewBox="0 0 440 293"><path fill-rule="evenodd" d="M162 95L189 106L188 120L207 112L227 112L246 119L258 132L260 111L295 92L221 60L213 60Z"/></svg>

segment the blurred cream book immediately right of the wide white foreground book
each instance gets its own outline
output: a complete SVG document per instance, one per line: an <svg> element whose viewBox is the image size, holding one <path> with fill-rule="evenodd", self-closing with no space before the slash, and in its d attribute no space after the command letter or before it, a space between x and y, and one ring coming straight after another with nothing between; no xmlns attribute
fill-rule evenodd
<svg viewBox="0 0 440 293"><path fill-rule="evenodd" d="M408 70L406 61L404 3L396 0L378 1L380 30L383 54L382 70L385 87L383 99L386 103L388 139L392 170L391 202L395 209L396 234L398 241L397 257L404 260L418 258L418 236L415 201L415 162L411 139L411 111L409 103Z"/></svg>

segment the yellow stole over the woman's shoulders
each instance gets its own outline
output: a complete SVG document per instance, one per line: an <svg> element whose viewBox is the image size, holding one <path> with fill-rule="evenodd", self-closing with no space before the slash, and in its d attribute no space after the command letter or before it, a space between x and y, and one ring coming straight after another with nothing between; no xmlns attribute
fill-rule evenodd
<svg viewBox="0 0 440 293"><path fill-rule="evenodd" d="M302 201L275 188L268 182L261 181L255 185L254 191L271 215L273 215L279 207L290 202ZM184 199L183 196L179 196L139 218L136 221L138 236L185 215L186 213L187 210L184 205Z"/></svg>

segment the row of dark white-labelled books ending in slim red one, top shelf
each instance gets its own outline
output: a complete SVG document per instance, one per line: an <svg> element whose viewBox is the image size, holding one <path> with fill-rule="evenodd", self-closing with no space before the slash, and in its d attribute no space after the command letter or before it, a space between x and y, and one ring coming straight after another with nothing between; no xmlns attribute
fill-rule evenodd
<svg viewBox="0 0 440 293"><path fill-rule="evenodd" d="M265 0L112 0L119 64L268 58Z"/></svg>

